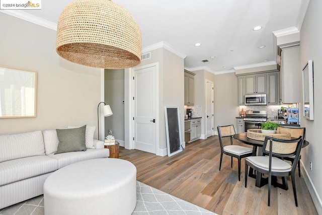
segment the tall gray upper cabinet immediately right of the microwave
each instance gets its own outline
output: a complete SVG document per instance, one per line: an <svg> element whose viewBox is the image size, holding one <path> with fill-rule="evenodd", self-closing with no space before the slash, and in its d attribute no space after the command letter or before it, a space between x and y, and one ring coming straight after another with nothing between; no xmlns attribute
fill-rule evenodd
<svg viewBox="0 0 322 215"><path fill-rule="evenodd" d="M277 105L279 104L279 72L275 71L273 73L267 74L267 104Z"/></svg>

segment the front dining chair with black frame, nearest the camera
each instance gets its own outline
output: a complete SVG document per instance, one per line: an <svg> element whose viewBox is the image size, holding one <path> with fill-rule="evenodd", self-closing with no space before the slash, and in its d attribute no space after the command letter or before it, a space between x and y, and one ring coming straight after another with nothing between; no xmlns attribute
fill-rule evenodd
<svg viewBox="0 0 322 215"><path fill-rule="evenodd" d="M270 206L272 176L291 176L295 205L297 206L295 170L302 143L303 139L301 136L292 140L266 136L262 150L263 155L268 156L252 156L245 160L245 187L247 187L248 166L256 170L257 174L268 175L268 206ZM292 165L282 160L290 156L295 156Z"/></svg>

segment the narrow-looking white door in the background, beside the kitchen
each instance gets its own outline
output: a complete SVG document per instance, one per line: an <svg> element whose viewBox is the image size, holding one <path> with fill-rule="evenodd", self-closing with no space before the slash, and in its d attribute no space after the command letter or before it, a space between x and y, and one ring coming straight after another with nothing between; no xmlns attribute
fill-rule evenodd
<svg viewBox="0 0 322 215"><path fill-rule="evenodd" d="M213 83L206 81L206 136L213 135Z"/></svg>

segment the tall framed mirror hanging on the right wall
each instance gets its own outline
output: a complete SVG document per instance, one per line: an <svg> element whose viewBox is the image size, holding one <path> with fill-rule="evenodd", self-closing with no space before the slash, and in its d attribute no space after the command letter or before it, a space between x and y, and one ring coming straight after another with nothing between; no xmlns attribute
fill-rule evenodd
<svg viewBox="0 0 322 215"><path fill-rule="evenodd" d="M314 119L314 92L313 92L313 63L308 60L303 68L303 116L309 120Z"/></svg>

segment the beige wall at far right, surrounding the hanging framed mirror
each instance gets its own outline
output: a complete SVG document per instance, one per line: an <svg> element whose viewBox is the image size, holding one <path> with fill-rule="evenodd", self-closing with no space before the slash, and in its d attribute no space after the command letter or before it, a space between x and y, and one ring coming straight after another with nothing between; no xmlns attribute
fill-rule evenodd
<svg viewBox="0 0 322 215"><path fill-rule="evenodd" d="M313 186L316 189L319 197L319 202L313 198L319 214L322 214L322 171L320 164L322 162L322 145L321 145L321 121L322 112L322 1L311 0L306 11L306 15L300 30L300 68L302 69L307 60L313 60L314 73L314 120L301 118L301 126L306 128L305 139L310 142L310 145L304 148L301 152L302 163L306 169ZM302 93L302 88L301 88ZM301 96L301 102L302 96ZM303 115L301 108L301 116ZM310 170L310 162L312 162L312 170ZM308 186L311 193L314 193L312 187Z"/></svg>

